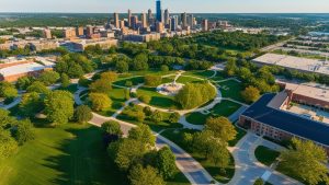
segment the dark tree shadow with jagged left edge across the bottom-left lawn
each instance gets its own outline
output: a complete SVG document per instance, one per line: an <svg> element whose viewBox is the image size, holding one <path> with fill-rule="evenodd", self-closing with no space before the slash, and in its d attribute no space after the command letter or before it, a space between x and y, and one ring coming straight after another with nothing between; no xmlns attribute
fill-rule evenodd
<svg viewBox="0 0 329 185"><path fill-rule="evenodd" d="M60 154L45 159L47 167L60 172L54 184L127 184L106 154L101 130L86 126L65 129L70 139L63 140L57 150Z"/></svg>

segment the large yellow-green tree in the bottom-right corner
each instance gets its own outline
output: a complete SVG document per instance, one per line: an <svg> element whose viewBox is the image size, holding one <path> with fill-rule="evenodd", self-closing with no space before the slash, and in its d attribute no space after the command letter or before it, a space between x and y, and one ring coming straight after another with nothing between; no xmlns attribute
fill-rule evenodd
<svg viewBox="0 0 329 185"><path fill-rule="evenodd" d="M293 138L292 146L280 155L280 166L292 175L298 176L308 184L320 182L329 184L329 170L326 164L326 151L313 141Z"/></svg>

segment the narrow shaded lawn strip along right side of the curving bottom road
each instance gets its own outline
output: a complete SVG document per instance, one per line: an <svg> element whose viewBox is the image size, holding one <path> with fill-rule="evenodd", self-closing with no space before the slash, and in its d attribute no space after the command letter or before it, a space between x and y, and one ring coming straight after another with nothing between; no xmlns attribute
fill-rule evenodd
<svg viewBox="0 0 329 185"><path fill-rule="evenodd" d="M186 147L183 141L183 134L184 132L195 132L195 130L189 130L189 129L181 129L181 130L166 130L161 132L161 135L172 142L180 146L185 151L189 151L189 147ZM234 158L231 157L231 162L229 166L226 169L226 173L220 172L220 169L216 165L214 165L213 162L209 162L205 160L203 157L201 157L198 153L195 152L189 152L195 160L197 160L203 167L218 182L220 183L228 183L229 180L234 176L235 173L235 164L234 164Z"/></svg>

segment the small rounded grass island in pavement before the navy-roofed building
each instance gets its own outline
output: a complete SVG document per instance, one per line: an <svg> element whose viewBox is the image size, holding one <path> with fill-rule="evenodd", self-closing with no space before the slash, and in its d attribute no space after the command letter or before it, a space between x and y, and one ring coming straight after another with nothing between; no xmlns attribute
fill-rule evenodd
<svg viewBox="0 0 329 185"><path fill-rule="evenodd" d="M254 155L259 162L270 166L273 162L275 162L275 159L280 155L280 152L269 149L264 146L259 146L254 150Z"/></svg>

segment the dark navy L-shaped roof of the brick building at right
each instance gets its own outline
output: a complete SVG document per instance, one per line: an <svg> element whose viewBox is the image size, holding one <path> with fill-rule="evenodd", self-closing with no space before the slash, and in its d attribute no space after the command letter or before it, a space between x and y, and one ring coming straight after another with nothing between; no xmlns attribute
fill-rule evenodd
<svg viewBox="0 0 329 185"><path fill-rule="evenodd" d="M329 126L268 106L276 94L264 94L241 115L318 143L329 146Z"/></svg>

